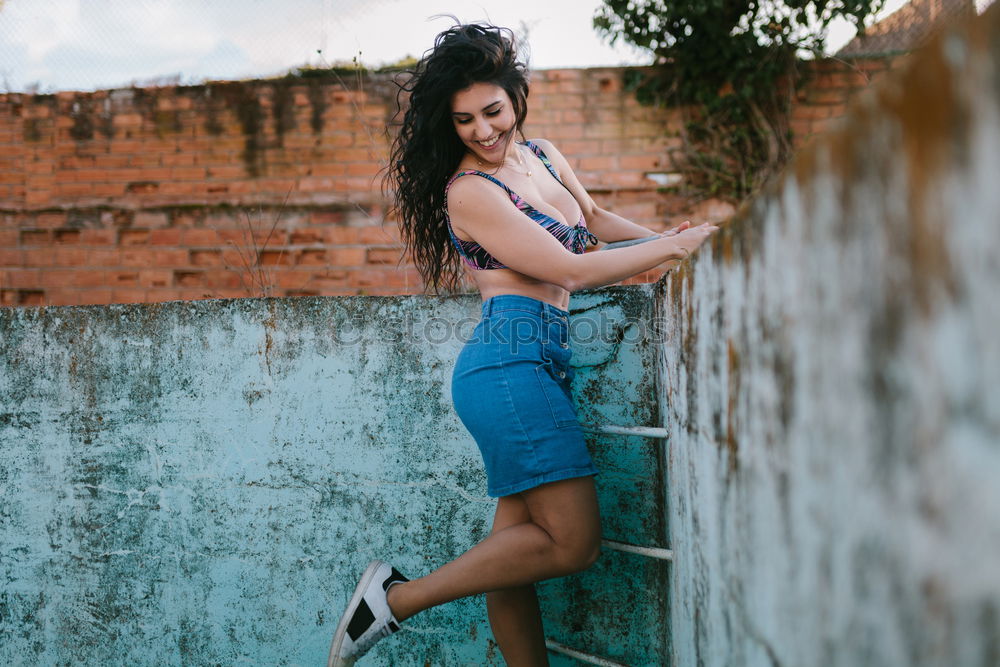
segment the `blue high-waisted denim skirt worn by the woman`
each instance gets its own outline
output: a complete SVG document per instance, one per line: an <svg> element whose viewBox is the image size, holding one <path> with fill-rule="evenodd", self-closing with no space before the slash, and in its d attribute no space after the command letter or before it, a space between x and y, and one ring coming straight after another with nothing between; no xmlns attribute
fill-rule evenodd
<svg viewBox="0 0 1000 667"><path fill-rule="evenodd" d="M483 302L451 392L483 455L489 495L597 473L570 397L572 354L566 311L515 294Z"/></svg>

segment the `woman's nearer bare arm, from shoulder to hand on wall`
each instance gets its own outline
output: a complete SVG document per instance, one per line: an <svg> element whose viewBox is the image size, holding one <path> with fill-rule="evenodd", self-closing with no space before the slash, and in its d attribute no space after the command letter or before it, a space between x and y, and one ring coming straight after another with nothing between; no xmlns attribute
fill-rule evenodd
<svg viewBox="0 0 1000 667"><path fill-rule="evenodd" d="M448 193L452 228L506 267L573 292L616 283L671 259L683 259L718 227L704 224L672 236L599 253L576 255L519 211L507 194L480 178L462 178Z"/></svg>

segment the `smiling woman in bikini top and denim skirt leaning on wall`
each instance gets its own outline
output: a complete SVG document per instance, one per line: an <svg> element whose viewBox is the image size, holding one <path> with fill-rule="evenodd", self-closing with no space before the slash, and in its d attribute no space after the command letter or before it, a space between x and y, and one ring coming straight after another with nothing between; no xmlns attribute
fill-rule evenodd
<svg viewBox="0 0 1000 667"><path fill-rule="evenodd" d="M507 664L545 665L534 583L589 567L601 539L597 471L569 398L570 292L682 259L717 227L684 223L642 244L584 254L597 239L655 232L598 207L551 143L515 141L528 81L508 30L446 30L405 90L410 106L388 178L426 283L454 288L461 259L482 294L483 319L459 355L452 390L498 500L490 535L420 579L373 562L330 664L352 664L417 612L486 593Z"/></svg>

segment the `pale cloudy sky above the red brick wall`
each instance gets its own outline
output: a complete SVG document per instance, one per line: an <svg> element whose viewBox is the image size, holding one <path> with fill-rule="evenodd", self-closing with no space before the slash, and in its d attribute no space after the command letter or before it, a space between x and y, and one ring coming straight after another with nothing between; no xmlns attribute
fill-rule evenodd
<svg viewBox="0 0 1000 667"><path fill-rule="evenodd" d="M905 0L888 0L885 12ZM600 0L0 0L0 92L282 74L419 56L451 25L526 32L533 68L648 64L592 27ZM838 29L831 46L853 33Z"/></svg>

